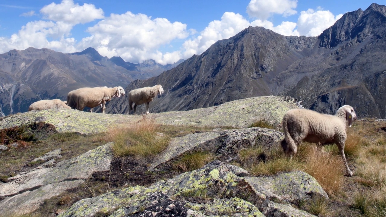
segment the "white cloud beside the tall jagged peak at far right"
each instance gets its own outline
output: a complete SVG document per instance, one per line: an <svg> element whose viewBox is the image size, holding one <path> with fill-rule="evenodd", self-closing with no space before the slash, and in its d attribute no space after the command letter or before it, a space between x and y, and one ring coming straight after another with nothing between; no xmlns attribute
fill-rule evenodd
<svg viewBox="0 0 386 217"><path fill-rule="evenodd" d="M298 32L302 36L319 36L325 29L334 25L343 14L334 16L328 10L308 9L300 12L298 19Z"/></svg>

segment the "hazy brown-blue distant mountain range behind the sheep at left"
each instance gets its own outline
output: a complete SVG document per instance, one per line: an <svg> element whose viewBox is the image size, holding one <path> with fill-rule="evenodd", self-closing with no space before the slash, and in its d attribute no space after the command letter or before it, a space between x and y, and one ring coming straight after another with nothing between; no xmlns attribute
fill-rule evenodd
<svg viewBox="0 0 386 217"><path fill-rule="evenodd" d="M69 91L80 87L127 86L174 66L154 62L150 69L122 58L117 64L116 59L103 57L92 47L69 54L33 47L0 54L0 116L26 112L32 102L41 99L65 101Z"/></svg>

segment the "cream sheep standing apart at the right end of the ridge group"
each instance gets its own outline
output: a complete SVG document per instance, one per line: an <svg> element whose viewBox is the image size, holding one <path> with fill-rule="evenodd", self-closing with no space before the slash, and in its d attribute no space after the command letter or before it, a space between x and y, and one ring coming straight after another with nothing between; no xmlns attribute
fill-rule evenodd
<svg viewBox="0 0 386 217"><path fill-rule="evenodd" d="M164 93L164 89L161 85L147 86L131 90L127 96L129 97L129 113L133 109L134 114L137 114L137 105L146 104L146 114L149 113L149 103L153 101L153 98ZM134 108L133 108L134 103Z"/></svg>

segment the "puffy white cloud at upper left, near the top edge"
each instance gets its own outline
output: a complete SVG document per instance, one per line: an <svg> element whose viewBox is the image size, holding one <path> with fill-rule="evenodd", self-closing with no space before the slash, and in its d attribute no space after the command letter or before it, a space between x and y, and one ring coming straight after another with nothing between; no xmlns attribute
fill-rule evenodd
<svg viewBox="0 0 386 217"><path fill-rule="evenodd" d="M63 0L60 4L51 3L44 6L40 12L44 19L66 22L69 24L85 24L95 19L103 18L103 10L95 5L84 3L80 6L73 0Z"/></svg>

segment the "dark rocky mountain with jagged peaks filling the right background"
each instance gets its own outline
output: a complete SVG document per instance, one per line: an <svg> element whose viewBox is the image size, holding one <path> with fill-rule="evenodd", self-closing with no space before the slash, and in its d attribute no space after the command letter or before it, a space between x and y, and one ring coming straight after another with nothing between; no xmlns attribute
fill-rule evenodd
<svg viewBox="0 0 386 217"><path fill-rule="evenodd" d="M250 26L176 68L130 83L126 91L163 85L165 93L151 103L151 112L290 95L319 112L349 104L359 117L385 118L385 27L386 7L375 3L346 13L318 37ZM115 100L107 112L127 114L127 104L127 98Z"/></svg>

